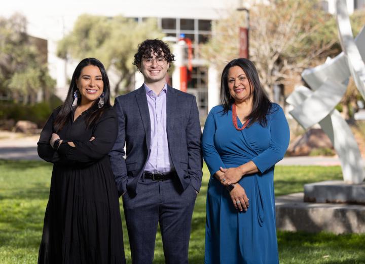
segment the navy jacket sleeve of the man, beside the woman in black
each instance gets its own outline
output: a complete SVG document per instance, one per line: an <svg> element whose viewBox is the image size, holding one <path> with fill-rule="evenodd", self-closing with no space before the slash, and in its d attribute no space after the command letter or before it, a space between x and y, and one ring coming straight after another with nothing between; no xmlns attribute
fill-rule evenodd
<svg viewBox="0 0 365 264"><path fill-rule="evenodd" d="M112 148L112 151L109 152L109 158L112 165L112 170L114 173L115 181L118 187L119 194L123 194L127 191L127 166L124 160L125 151L125 119L124 113L122 109L122 105L119 103L118 98L116 98L114 109L117 112L118 116L118 137Z"/></svg>

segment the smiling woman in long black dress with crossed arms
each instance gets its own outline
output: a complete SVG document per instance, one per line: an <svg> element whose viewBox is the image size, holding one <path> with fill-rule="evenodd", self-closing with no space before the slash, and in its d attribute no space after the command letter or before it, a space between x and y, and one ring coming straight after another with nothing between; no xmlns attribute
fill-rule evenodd
<svg viewBox="0 0 365 264"><path fill-rule="evenodd" d="M118 191L108 152L118 134L103 64L83 59L38 154L54 163L38 263L125 263Z"/></svg>

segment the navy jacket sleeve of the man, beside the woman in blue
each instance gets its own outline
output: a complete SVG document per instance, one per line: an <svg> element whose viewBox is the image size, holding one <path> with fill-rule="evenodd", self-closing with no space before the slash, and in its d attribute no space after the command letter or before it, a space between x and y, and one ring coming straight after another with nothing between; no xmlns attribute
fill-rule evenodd
<svg viewBox="0 0 365 264"><path fill-rule="evenodd" d="M188 146L188 174L195 190L199 191L203 177L203 159L201 153L201 128L199 121L198 106L194 99L190 108L190 115L186 127L186 137Z"/></svg>

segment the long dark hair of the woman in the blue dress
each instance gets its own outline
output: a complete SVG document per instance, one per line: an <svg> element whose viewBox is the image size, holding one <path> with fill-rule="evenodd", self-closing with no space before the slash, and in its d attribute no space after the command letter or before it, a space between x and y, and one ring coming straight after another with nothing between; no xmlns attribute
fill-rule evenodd
<svg viewBox="0 0 365 264"><path fill-rule="evenodd" d="M271 102L260 85L259 74L256 68L250 60L245 58L233 59L228 62L226 67L223 69L221 78L221 104L223 105L223 114L227 114L228 111L231 110L232 104L234 103L234 99L231 98L228 88L228 72L229 69L234 66L240 67L245 72L250 84L250 90L252 90L252 92L250 91L250 96L253 96L252 110L251 113L246 116L247 119L250 119L248 126L257 121L262 126L266 126L266 115L271 109Z"/></svg>

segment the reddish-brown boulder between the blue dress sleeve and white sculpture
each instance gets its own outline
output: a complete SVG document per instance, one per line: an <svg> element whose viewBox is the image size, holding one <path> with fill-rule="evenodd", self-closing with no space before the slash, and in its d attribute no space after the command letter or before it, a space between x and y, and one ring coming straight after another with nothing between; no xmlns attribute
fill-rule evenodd
<svg viewBox="0 0 365 264"><path fill-rule="evenodd" d="M290 156L307 156L314 149L333 149L330 138L320 128L311 128L290 143L286 153Z"/></svg>

